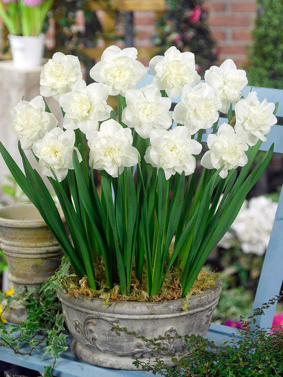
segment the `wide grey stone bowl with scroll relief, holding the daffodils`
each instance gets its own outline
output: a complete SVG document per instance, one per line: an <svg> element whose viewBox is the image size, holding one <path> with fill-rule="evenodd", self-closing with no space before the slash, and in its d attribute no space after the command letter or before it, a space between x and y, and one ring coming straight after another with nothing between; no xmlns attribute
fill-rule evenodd
<svg viewBox="0 0 283 377"><path fill-rule="evenodd" d="M206 289L202 295L192 296L187 311L182 309L183 298L146 303L117 301L104 306L99 298L75 298L60 291L57 294L73 336L70 348L76 357L101 367L137 370L132 364L134 357L148 361L156 354L150 344L117 331L117 325L147 339L175 334L204 337L221 291L219 279L215 287ZM163 346L171 353L186 349L183 339L163 340ZM170 357L164 357L164 361L172 365Z"/></svg>

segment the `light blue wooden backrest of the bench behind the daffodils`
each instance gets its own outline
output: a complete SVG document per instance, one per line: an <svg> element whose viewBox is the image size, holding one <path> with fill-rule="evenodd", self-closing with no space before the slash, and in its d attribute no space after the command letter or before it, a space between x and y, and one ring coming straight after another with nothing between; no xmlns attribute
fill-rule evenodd
<svg viewBox="0 0 283 377"><path fill-rule="evenodd" d="M137 86L138 89L147 84L151 84L153 75L147 69L147 74L144 79ZM283 154L283 90L251 87L246 86L242 91L243 98L246 98L248 93L252 90L257 92L258 99L263 101L267 99L268 102L279 102L279 107L276 116L279 117L278 124L271 127L270 133L266 136L266 141L262 143L260 150L267 151L272 143L274 143L274 152ZM173 99L173 103L178 103L181 96ZM220 118L219 125L227 121L225 118ZM206 141L207 134L204 134L202 141ZM254 299L253 310L259 308L269 299L279 295L283 283L283 190L281 190L278 208L276 212L275 221L273 224L268 248L265 253L262 272ZM273 317L275 314L276 305L270 305L265 311L264 316L257 319L255 325L260 325L262 328L271 327Z"/></svg>

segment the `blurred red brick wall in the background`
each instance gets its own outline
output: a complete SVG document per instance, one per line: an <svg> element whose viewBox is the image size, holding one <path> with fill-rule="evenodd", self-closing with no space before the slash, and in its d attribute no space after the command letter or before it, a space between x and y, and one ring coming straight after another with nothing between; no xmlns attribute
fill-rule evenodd
<svg viewBox="0 0 283 377"><path fill-rule="evenodd" d="M237 67L246 59L246 45L256 17L256 0L206 0L209 10L208 24L219 47L219 63L230 58ZM150 47L154 32L154 12L135 12L135 46ZM142 61L146 64L146 60ZM147 62L148 63L148 62Z"/></svg>

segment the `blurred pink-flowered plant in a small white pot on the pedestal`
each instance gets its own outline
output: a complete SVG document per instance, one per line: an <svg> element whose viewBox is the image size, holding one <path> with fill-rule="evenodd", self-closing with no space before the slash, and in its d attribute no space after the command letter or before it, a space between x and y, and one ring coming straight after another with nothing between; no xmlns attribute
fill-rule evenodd
<svg viewBox="0 0 283 377"><path fill-rule="evenodd" d="M53 0L1 0L0 17L9 31L14 66L41 65L44 54L43 23Z"/></svg>

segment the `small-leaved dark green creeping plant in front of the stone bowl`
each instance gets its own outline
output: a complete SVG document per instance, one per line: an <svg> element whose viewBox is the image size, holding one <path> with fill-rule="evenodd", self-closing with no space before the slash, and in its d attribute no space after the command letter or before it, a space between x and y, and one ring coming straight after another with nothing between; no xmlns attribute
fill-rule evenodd
<svg viewBox="0 0 283 377"><path fill-rule="evenodd" d="M283 326L272 329L254 328L256 317L263 316L265 309L282 298L276 296L261 308L254 310L252 316L240 318L243 329L238 330L229 341L216 345L214 341L203 339L195 335L184 336L186 351L178 355L170 354L167 348L162 347L163 337L145 339L139 335L128 332L127 329L117 327L117 330L134 335L142 341L149 343L155 350L156 357L149 362L139 359L134 365L141 366L143 370L159 373L165 377L243 377L243 376L283 376ZM179 335L166 337L166 340L182 338ZM191 350L194 350L191 352ZM160 353L171 357L175 367L164 363Z"/></svg>

